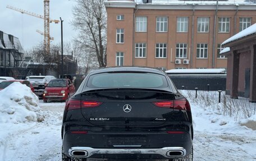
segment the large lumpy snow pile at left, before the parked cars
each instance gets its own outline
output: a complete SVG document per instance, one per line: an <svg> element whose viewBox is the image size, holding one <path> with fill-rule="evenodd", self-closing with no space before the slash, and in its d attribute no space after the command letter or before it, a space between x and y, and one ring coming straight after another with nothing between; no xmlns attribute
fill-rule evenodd
<svg viewBox="0 0 256 161"><path fill-rule="evenodd" d="M44 120L38 97L20 82L13 82L0 91L0 123L21 123Z"/></svg>

